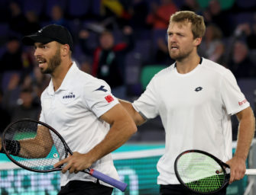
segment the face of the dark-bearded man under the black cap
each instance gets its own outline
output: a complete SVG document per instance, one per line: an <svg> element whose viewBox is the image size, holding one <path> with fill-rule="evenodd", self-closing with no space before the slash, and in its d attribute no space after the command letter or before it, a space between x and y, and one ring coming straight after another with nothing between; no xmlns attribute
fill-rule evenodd
<svg viewBox="0 0 256 195"><path fill-rule="evenodd" d="M60 43L52 41L47 44L34 43L34 56L38 66L44 74L52 74L62 62L60 56Z"/></svg>

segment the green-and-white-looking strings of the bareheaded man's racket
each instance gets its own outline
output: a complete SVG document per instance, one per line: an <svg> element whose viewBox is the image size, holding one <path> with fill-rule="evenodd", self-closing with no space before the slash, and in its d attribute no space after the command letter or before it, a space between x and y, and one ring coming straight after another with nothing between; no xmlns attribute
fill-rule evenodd
<svg viewBox="0 0 256 195"><path fill-rule="evenodd" d="M197 192L213 192L222 187L225 181L222 167L214 159L201 153L182 155L177 168L183 183Z"/></svg>

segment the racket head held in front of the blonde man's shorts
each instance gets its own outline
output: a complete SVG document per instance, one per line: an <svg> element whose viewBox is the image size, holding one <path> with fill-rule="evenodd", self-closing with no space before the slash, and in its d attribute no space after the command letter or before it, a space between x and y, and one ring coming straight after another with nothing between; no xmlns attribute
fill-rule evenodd
<svg viewBox="0 0 256 195"><path fill-rule="evenodd" d="M174 171L178 181L199 194L215 193L228 185L227 164L201 150L187 150L177 156Z"/></svg>

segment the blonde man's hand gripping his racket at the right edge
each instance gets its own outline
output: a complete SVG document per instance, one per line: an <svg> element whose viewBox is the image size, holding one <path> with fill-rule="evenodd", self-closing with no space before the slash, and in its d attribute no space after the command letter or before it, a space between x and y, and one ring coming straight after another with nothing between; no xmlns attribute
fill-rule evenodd
<svg viewBox="0 0 256 195"><path fill-rule="evenodd" d="M232 184L233 181L241 180L245 176L245 159L234 156L226 164L230 166L229 184Z"/></svg>

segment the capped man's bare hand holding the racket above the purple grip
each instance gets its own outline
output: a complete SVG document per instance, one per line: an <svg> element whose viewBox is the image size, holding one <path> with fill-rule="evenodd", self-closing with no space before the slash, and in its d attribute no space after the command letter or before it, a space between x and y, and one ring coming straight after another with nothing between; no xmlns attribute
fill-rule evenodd
<svg viewBox="0 0 256 195"><path fill-rule="evenodd" d="M65 174L68 170L70 174L77 174L79 171L83 171L86 168L89 168L92 165L92 161L89 161L89 157L86 154L73 152L73 155L69 155L69 157L57 162L54 165L54 168L57 168L63 164L66 164L62 170L63 174Z"/></svg>

